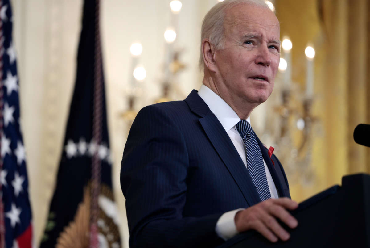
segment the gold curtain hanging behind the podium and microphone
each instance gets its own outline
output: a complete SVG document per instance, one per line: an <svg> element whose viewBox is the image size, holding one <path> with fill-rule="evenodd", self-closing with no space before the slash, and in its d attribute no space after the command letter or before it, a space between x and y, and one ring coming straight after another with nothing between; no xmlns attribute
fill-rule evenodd
<svg viewBox="0 0 370 248"><path fill-rule="evenodd" d="M290 185L302 201L341 184L349 173L370 173L370 148L353 141L359 123L370 124L369 0L276 0L281 39L293 43L292 80L305 87L305 47L316 50L313 115L322 132L313 132L313 185ZM297 165L299 166L299 165ZM289 178L288 178L289 179Z"/></svg>

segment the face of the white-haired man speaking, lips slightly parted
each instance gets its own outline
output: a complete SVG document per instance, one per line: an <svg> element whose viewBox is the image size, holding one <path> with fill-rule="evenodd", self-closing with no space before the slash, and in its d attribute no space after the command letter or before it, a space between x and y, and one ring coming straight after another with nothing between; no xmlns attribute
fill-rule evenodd
<svg viewBox="0 0 370 248"><path fill-rule="evenodd" d="M216 50L215 85L229 104L258 105L270 96L280 59L280 27L272 11L239 4L226 12L225 49Z"/></svg>

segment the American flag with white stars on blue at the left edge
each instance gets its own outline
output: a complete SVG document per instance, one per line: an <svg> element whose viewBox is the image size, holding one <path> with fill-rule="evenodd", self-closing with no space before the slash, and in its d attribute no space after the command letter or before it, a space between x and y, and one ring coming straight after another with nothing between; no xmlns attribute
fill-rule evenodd
<svg viewBox="0 0 370 248"><path fill-rule="evenodd" d="M31 247L32 239L12 29L10 1L0 0L0 248Z"/></svg>

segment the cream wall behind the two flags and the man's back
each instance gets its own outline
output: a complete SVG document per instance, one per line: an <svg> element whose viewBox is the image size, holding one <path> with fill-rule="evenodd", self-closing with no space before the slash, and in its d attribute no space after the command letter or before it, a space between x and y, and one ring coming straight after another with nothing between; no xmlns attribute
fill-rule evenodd
<svg viewBox="0 0 370 248"><path fill-rule="evenodd" d="M147 70L143 83L147 97L138 102L137 107L141 108L161 95L159 70L164 61L163 33L170 23L169 1L101 2L108 125L114 155L113 184L121 210L121 233L124 245L128 247L124 197L119 183L127 127L118 116L127 108L124 94L130 76L129 46L132 42L143 45L140 63ZM176 46L184 48L181 60L187 68L177 78L181 89L178 97L186 96L191 89L198 89L201 83L197 67L200 23L206 11L216 2L182 1ZM38 245L54 190L73 92L83 1L12 0L11 3L34 237Z"/></svg>

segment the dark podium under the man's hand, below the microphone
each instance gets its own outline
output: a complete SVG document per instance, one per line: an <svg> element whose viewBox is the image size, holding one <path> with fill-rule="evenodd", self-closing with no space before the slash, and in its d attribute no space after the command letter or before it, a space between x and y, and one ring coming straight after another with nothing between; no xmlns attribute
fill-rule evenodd
<svg viewBox="0 0 370 248"><path fill-rule="evenodd" d="M314 195L291 213L298 226L290 229L282 224L290 233L288 241L272 243L256 231L247 231L218 248L370 248L370 175L344 176L342 186Z"/></svg>

